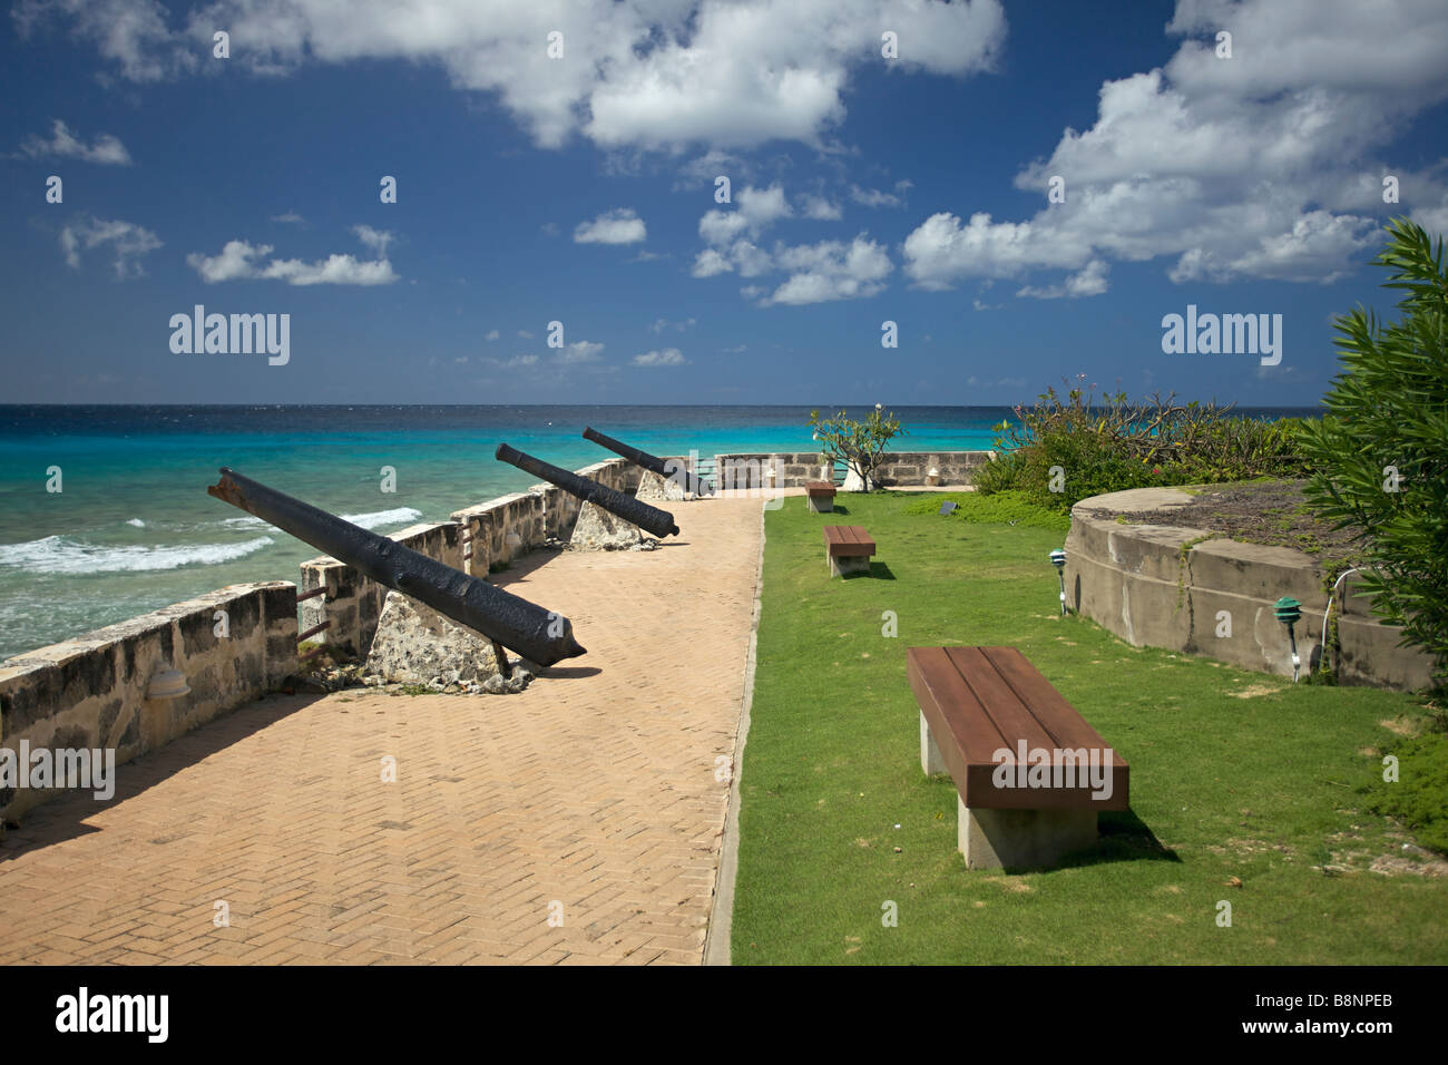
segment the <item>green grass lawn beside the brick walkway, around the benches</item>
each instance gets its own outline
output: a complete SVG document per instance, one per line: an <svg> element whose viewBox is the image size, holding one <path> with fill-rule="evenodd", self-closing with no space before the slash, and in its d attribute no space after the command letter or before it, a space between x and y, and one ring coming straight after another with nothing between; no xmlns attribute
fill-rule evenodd
<svg viewBox="0 0 1448 1065"><path fill-rule="evenodd" d="M766 516L736 964L1448 962L1448 878L1407 871L1410 838L1358 791L1418 701L1132 648L1058 617L1063 532L837 498ZM870 575L828 577L825 523L869 529ZM964 868L905 678L906 648L954 643L1021 648L1131 764L1131 813L1102 814L1096 848L1047 872Z"/></svg>

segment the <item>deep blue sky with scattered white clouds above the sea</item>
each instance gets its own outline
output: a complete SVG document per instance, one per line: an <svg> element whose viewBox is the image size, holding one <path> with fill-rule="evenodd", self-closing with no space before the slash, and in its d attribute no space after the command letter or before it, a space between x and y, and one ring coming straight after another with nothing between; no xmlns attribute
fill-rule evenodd
<svg viewBox="0 0 1448 1065"><path fill-rule="evenodd" d="M0 401L1310 404L1381 223L1448 229L1444 55L1441 0L25 0Z"/></svg>

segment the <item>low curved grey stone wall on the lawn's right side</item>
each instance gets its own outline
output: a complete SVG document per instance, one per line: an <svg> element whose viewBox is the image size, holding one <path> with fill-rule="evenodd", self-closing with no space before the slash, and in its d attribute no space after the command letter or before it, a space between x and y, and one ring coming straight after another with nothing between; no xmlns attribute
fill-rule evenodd
<svg viewBox="0 0 1448 1065"><path fill-rule="evenodd" d="M1203 539L1212 530L1122 525L1114 516L1089 513L1154 510L1189 500L1174 488L1135 488L1077 503L1066 539L1069 604L1137 646L1208 655L1292 677L1287 629L1273 614L1277 598L1292 596L1302 603L1295 632L1306 675L1322 656L1328 604L1322 569L1312 558L1289 548ZM1378 622L1367 600L1354 596L1358 587L1355 577L1344 581L1332 609L1341 643L1339 680L1400 691L1425 687L1431 659L1397 646L1402 629ZM1218 635L1226 632L1221 611L1229 617L1229 635Z"/></svg>

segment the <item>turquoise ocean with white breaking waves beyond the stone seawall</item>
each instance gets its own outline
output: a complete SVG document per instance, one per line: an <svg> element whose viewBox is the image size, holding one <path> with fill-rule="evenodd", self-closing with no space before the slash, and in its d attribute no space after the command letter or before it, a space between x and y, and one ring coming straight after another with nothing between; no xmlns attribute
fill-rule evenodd
<svg viewBox="0 0 1448 1065"><path fill-rule="evenodd" d="M908 429L898 451L988 449L1011 417L893 410ZM319 552L207 496L223 465L388 533L534 484L494 458L501 442L566 469L613 456L584 426L654 455L808 452L808 417L778 406L0 406L0 661L226 584L298 580ZM382 467L397 471L392 493Z"/></svg>

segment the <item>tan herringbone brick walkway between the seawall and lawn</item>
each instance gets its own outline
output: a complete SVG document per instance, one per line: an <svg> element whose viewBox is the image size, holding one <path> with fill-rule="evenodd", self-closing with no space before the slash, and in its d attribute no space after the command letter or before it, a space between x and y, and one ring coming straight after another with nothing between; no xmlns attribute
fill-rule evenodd
<svg viewBox="0 0 1448 1065"><path fill-rule="evenodd" d="M109 804L32 811L0 962L698 964L759 510L676 504L660 551L504 574L588 648L520 696L266 698L120 767Z"/></svg>

